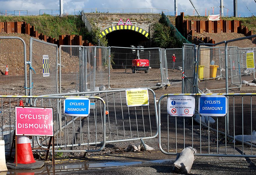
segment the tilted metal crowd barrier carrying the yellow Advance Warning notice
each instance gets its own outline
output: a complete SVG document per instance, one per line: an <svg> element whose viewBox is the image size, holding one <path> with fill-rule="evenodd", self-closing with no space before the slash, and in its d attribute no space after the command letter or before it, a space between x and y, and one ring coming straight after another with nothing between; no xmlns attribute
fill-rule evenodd
<svg viewBox="0 0 256 175"><path fill-rule="evenodd" d="M126 106L126 89L115 89L108 91L93 91L93 92L78 92L78 93L66 93L58 95L90 95L98 96L106 102L106 144L115 143L115 142L127 142L127 141L136 141L140 140L144 144L143 139L152 139L158 135L157 127L157 103L156 96L152 89L146 88L149 93L149 106L137 106L137 107L127 107ZM57 94L51 94L57 95ZM96 102L93 101L93 102ZM97 112L101 106L96 105L93 109L91 115L97 116ZM102 113L101 113L102 114ZM75 120L76 118L74 118ZM61 116L62 130L66 130L67 127L72 124L75 125L74 121L65 119L65 116ZM99 117L97 120L95 118L95 123L101 124L102 119ZM79 126L82 124L79 124ZM59 126L59 125L58 125ZM89 125L88 125L89 126ZM97 129L99 130L99 129ZM92 130L90 130L92 131ZM65 132L65 131L64 131ZM99 136L99 135L98 135ZM97 137L98 137L97 136ZM63 137L58 137L57 147L64 148L67 145L71 146L72 144L67 144L68 140L73 140L67 136L65 140ZM88 145L95 144L95 141L90 140ZM100 144L100 142L96 142ZM77 146L74 144L74 146Z"/></svg>

